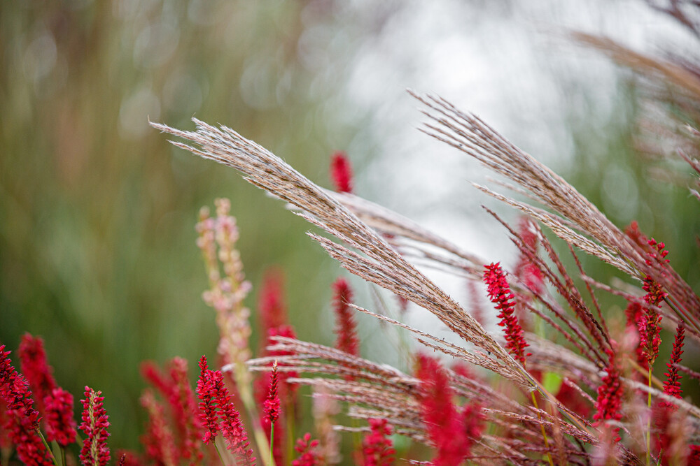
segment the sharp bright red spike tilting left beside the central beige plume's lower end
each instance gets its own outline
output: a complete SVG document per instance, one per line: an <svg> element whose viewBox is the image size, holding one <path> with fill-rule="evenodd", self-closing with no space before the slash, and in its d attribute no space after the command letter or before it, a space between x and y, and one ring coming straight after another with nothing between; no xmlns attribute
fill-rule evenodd
<svg viewBox="0 0 700 466"><path fill-rule="evenodd" d="M484 283L486 283L488 287L487 292L489 293L491 303L496 305L497 310L500 310L498 314L500 322L498 325L503 327L503 331L505 332L505 347L517 361L524 364L526 356L530 356L529 353L525 354L525 348L530 345L525 341L523 328L520 326L518 318L514 313L514 296L510 291L510 285L508 285L505 279L500 263L486 265Z"/></svg>

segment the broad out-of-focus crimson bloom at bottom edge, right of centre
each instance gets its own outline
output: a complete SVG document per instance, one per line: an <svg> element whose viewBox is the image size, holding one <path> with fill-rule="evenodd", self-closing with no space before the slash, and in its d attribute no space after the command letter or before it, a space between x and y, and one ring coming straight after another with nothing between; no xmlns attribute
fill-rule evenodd
<svg viewBox="0 0 700 466"><path fill-rule="evenodd" d="M481 408L466 405L462 412L452 403L447 373L437 360L418 355L416 377L421 381L421 418L437 454L432 464L451 466L468 458L474 439L484 427Z"/></svg>

